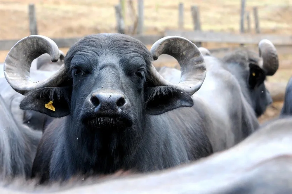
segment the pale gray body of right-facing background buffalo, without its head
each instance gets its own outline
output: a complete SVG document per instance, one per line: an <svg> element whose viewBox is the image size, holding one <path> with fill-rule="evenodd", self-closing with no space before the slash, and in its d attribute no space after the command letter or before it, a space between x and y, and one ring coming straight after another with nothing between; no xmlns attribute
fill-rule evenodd
<svg viewBox="0 0 292 194"><path fill-rule="evenodd" d="M206 133L211 140L213 151L217 152L239 143L244 139L244 135L256 130L259 123L235 77L224 70L221 61L215 57L204 56L204 58L207 67L206 78L192 97L195 101L201 99L205 103L207 114L214 121L216 130ZM178 77L180 71L174 68L161 68L159 74L166 76L164 78L174 84L180 79Z"/></svg>

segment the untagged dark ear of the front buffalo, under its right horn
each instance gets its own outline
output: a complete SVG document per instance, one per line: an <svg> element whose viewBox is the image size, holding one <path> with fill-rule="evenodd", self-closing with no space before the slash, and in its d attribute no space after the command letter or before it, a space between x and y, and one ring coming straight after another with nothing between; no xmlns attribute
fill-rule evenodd
<svg viewBox="0 0 292 194"><path fill-rule="evenodd" d="M145 110L150 115L160 115L176 108L194 105L188 93L171 86L147 87L144 94Z"/></svg>

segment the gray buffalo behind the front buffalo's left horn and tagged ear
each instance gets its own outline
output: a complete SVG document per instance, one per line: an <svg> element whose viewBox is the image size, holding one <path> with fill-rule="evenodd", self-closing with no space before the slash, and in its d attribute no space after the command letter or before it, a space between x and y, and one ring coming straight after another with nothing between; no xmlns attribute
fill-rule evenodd
<svg viewBox="0 0 292 194"><path fill-rule="evenodd" d="M57 62L52 62L48 53L42 54L32 61L31 79L40 81L53 75L64 63L65 55L60 51L60 58ZM32 129L43 131L44 128L52 121L52 117L33 110L22 110L19 108L23 95L16 92L8 84L3 74L3 65L0 65L0 95L8 105L8 109L13 115L18 125L26 125Z"/></svg>

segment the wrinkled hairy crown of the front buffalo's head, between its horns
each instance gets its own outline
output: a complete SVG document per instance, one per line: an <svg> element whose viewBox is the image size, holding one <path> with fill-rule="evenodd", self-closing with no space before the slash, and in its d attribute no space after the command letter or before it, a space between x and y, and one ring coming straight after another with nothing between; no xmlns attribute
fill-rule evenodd
<svg viewBox="0 0 292 194"><path fill-rule="evenodd" d="M147 66L152 62L150 51L140 40L119 33L100 33L83 37L69 48L65 64L69 65L76 53L96 57L104 54L124 56L137 53L144 58Z"/></svg>

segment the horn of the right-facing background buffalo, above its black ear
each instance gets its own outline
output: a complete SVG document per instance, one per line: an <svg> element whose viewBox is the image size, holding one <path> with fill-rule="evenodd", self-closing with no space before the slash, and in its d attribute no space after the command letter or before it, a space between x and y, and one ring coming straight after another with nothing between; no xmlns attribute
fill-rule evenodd
<svg viewBox="0 0 292 194"><path fill-rule="evenodd" d="M263 59L262 68L267 72L267 75L274 75L279 67L277 50L274 44L263 39L258 43L259 56Z"/></svg>

